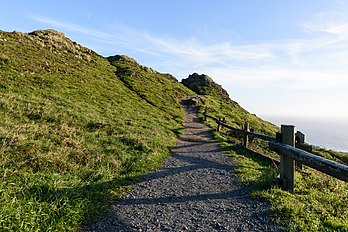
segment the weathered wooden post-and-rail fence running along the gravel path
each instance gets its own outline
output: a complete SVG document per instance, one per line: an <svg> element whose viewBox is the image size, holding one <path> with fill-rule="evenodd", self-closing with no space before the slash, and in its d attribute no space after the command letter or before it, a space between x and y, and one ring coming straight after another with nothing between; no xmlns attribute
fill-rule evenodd
<svg viewBox="0 0 348 232"><path fill-rule="evenodd" d="M225 127L231 130L233 134L242 137L243 146L245 147L248 146L250 138L268 141L269 148L280 155L280 180L283 189L289 192L294 191L295 161L348 182L348 166L310 153L312 149L311 146L304 143L304 134L299 131L295 134L295 127L292 125L281 125L281 131L275 137L272 137L253 132L247 122L244 124L243 129L238 129L227 125L224 118L208 115L207 110L204 111L203 116L205 121L207 118L216 121L217 131Z"/></svg>

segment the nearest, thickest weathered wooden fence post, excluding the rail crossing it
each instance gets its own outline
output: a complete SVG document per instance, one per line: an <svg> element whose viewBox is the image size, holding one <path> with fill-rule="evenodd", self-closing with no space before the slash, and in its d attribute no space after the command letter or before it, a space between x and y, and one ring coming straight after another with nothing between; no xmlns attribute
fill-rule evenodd
<svg viewBox="0 0 348 232"><path fill-rule="evenodd" d="M282 143L295 146L295 126L281 125ZM280 154L280 179L284 190L294 192L295 183L295 161L289 157Z"/></svg>

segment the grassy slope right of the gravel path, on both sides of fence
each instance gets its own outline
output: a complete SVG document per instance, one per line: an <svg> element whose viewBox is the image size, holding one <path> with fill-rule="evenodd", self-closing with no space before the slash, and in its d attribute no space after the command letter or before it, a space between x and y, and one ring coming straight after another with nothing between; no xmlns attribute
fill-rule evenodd
<svg viewBox="0 0 348 232"><path fill-rule="evenodd" d="M201 77L204 78L204 75ZM202 98L210 115L226 117L227 123L237 128L248 121L251 128L273 136L279 130L245 111L219 88L221 86L211 83L205 84L205 88L198 88L203 89L199 93L204 94ZM208 120L207 124L216 128L212 120ZM240 141L226 131L214 134L231 155L240 181L255 187L253 194L271 203L276 219L289 231L348 231L348 183L304 167L302 171L296 171L294 193L290 194L275 184L278 173L273 163L238 146ZM252 149L278 157L261 141L254 141ZM315 148L314 153L347 165L347 153L322 148Z"/></svg>

